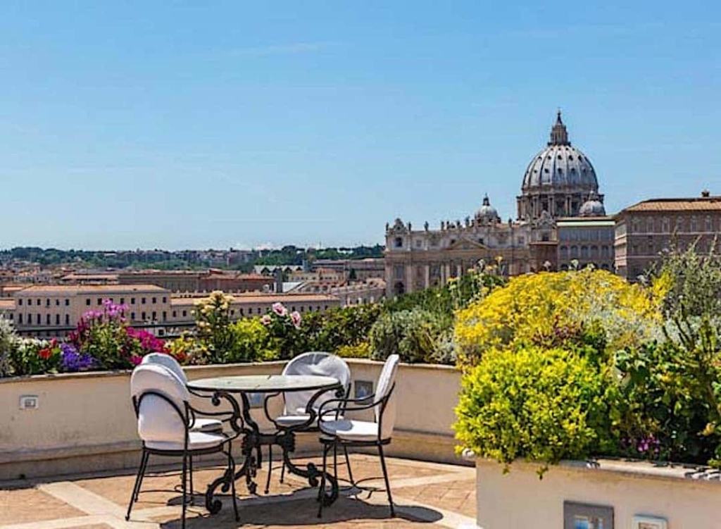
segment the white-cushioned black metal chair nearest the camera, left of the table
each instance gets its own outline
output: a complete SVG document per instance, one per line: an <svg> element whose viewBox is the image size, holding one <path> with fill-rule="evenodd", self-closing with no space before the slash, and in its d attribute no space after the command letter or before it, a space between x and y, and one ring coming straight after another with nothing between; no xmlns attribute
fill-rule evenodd
<svg viewBox="0 0 721 529"><path fill-rule="evenodd" d="M235 481L232 479L235 460L231 455L231 443L237 434L199 432L191 429L195 414L203 412L190 406L190 393L185 384L166 367L151 363L136 367L131 376L131 395L138 417L138 434L143 443L143 454L125 520L130 520L133 503L138 501L149 456L153 454L182 457L182 527L185 528L189 460L196 455L218 452L228 456L226 472L231 476L233 507L238 520ZM216 412L217 415L232 413ZM192 478L190 489L193 490Z"/></svg>

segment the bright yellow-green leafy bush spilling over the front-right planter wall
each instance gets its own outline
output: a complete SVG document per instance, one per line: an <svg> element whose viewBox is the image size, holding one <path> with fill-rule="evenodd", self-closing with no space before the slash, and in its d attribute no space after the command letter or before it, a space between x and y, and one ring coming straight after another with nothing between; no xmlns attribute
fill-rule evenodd
<svg viewBox="0 0 721 529"><path fill-rule="evenodd" d="M608 373L563 349L488 351L462 378L461 448L500 463L539 461L541 470L562 458L613 453Z"/></svg>

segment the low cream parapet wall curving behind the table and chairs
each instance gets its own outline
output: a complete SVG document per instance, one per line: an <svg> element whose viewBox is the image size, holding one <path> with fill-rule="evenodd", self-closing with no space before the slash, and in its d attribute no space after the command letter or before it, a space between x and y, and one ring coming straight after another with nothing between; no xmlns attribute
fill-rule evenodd
<svg viewBox="0 0 721 529"><path fill-rule="evenodd" d="M382 364L349 359L355 382L374 383ZM280 373L284 362L193 366L193 380L205 377ZM454 454L454 407L460 372L453 367L402 364L397 378L398 414L389 455L441 462ZM21 409L24 396L36 409ZM200 404L200 403L196 403ZM208 403L203 403L208 407ZM281 401L271 409L278 412ZM262 409L252 412L261 427ZM0 379L0 480L79 471L131 468L140 442L130 400L130 372L88 372ZM317 434L298 439L298 453L314 453Z"/></svg>

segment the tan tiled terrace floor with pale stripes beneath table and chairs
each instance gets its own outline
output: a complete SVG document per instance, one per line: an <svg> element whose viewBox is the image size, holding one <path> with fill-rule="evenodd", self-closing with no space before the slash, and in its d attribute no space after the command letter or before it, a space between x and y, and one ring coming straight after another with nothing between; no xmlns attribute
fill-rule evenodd
<svg viewBox="0 0 721 529"><path fill-rule="evenodd" d="M339 458L339 463L342 458ZM298 462L308 460L298 460ZM473 528L475 473L473 468L387 459L396 517L391 518L384 491L341 496L317 517L315 491L296 476L280 484L275 462L270 493L264 494L267 463L258 473L260 494L250 496L238 482L240 522L232 515L229 497L217 515L208 515L203 498L195 497L188 509L187 527L371 529L446 527ZM151 459L152 463L152 459ZM352 455L353 477L363 486L382 488L379 460L371 455ZM220 467L196 468L195 490L204 491L218 477ZM348 476L339 464L339 477ZM166 529L180 528L180 474L177 468L151 468L143 491L133 507L130 522L125 510L135 476L131 473L63 476L37 482L14 482L0 489L0 529ZM345 484L341 483L341 486ZM151 490L152 489L152 490Z"/></svg>

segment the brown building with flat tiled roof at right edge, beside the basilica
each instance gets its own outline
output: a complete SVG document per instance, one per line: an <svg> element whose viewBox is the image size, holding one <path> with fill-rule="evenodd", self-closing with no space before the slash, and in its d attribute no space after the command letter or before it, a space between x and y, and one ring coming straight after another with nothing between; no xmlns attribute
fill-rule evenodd
<svg viewBox="0 0 721 529"><path fill-rule="evenodd" d="M616 273L634 280L674 246L683 250L694 244L707 252L721 235L721 196L704 191L694 198L653 198L623 209L615 219Z"/></svg>

